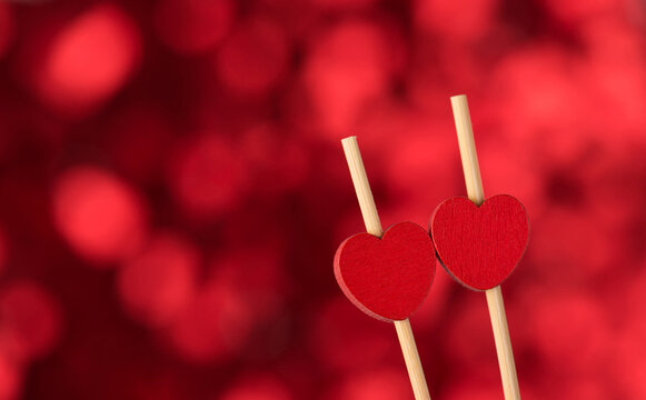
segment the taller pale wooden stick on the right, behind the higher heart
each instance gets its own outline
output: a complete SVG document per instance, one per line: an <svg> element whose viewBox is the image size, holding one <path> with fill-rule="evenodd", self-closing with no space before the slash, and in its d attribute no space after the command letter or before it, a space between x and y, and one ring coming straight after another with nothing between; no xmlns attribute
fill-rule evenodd
<svg viewBox="0 0 646 400"><path fill-rule="evenodd" d="M478 154L476 153L467 97L464 94L454 96L450 98L450 102L456 122L458 144L460 147L467 194L473 202L479 206L485 201L485 194L483 191L483 181L480 179L480 168L478 167ZM516 376L516 364L514 362L514 352L511 351L511 340L509 339L503 292L500 291L500 287L497 286L487 290L486 294L494 339L496 340L496 351L498 353L505 400L520 400L520 390L518 388L518 378Z"/></svg>

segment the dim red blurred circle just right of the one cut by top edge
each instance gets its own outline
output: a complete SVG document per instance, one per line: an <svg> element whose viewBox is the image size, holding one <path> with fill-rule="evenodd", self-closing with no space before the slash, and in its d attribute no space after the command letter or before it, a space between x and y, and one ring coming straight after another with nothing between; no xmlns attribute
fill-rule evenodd
<svg viewBox="0 0 646 400"><path fill-rule="evenodd" d="M239 23L216 58L222 83L240 96L266 94L286 76L290 48L280 26L266 18Z"/></svg>

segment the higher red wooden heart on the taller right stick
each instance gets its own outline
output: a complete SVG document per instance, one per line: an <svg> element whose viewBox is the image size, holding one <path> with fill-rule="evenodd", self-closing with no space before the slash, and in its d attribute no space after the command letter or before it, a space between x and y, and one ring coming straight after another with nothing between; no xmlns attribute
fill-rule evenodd
<svg viewBox="0 0 646 400"><path fill-rule="evenodd" d="M430 219L430 236L444 268L475 290L500 284L527 247L529 222L520 201L494 196L480 207L466 198L446 200Z"/></svg>

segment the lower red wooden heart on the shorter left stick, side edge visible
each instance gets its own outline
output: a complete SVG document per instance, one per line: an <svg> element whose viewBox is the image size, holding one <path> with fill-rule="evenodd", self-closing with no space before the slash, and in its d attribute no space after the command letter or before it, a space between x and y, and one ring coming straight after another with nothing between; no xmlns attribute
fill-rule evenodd
<svg viewBox="0 0 646 400"><path fill-rule="evenodd" d="M433 242L413 222L390 227L381 239L355 234L335 254L335 276L348 299L368 316L389 322L407 319L433 283Z"/></svg>

